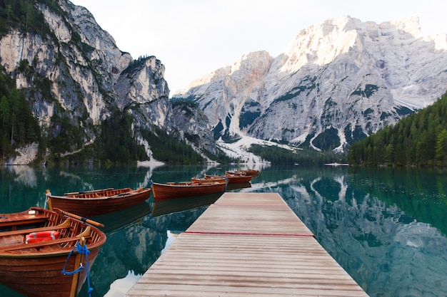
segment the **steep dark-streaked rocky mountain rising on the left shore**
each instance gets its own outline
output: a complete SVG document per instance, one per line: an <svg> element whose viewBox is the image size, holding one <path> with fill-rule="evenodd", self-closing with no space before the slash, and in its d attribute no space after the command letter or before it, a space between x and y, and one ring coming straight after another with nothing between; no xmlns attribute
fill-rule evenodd
<svg viewBox="0 0 447 297"><path fill-rule="evenodd" d="M189 137L194 140L189 145L216 152L203 114L171 105L161 61L154 56L134 60L121 51L87 9L68 0L2 5L1 66L25 93L46 139L46 147L19 147L6 164L32 162L37 150L46 150L46 157L86 151L114 110L131 115L132 137L149 156L147 131L154 127L186 141L185 135L200 133L200 141Z"/></svg>

